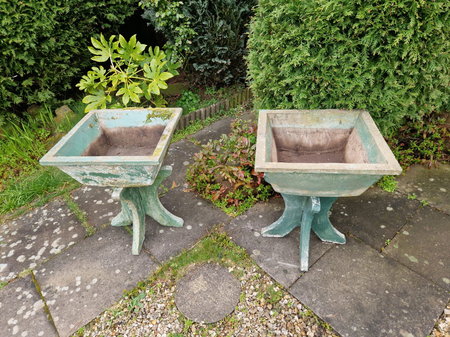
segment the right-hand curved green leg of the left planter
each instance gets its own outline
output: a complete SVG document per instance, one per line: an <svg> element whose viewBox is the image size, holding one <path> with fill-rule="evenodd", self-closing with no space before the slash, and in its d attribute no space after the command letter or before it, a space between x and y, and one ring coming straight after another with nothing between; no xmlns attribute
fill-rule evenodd
<svg viewBox="0 0 450 337"><path fill-rule="evenodd" d="M139 193L144 205L145 214L153 217L162 226L183 227L183 219L170 213L158 198L159 184L172 173L171 166L162 166L158 176L150 186L140 186Z"/></svg>

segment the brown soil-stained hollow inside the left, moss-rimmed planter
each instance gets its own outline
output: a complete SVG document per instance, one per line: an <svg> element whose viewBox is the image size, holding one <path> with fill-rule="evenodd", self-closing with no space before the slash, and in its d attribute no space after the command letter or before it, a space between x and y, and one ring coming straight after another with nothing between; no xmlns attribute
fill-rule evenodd
<svg viewBox="0 0 450 337"><path fill-rule="evenodd" d="M103 129L82 156L153 155L165 125Z"/></svg>

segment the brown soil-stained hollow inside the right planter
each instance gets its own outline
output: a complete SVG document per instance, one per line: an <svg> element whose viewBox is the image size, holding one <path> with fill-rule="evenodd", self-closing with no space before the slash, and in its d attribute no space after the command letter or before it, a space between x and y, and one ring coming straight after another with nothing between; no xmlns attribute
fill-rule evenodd
<svg viewBox="0 0 450 337"><path fill-rule="evenodd" d="M356 129L273 127L270 161L280 163L369 163Z"/></svg>

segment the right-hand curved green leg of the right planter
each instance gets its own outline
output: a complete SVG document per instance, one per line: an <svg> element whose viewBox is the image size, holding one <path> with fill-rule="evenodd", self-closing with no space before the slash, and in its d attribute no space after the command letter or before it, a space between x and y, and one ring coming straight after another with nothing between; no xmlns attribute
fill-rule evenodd
<svg viewBox="0 0 450 337"><path fill-rule="evenodd" d="M328 211L336 199L338 198L320 197L321 209L312 219L311 229L322 241L332 242L333 244L345 244L345 235L334 228L328 219Z"/></svg>

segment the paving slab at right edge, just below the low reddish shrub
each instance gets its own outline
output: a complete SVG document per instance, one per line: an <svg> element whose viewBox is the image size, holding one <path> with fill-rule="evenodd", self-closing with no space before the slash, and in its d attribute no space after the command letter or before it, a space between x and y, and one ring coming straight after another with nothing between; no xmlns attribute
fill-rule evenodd
<svg viewBox="0 0 450 337"><path fill-rule="evenodd" d="M428 169L425 165L414 165L405 176L397 177L397 191L417 195L432 207L450 214L450 165L439 164L439 168Z"/></svg>

